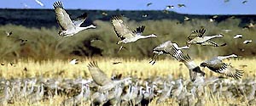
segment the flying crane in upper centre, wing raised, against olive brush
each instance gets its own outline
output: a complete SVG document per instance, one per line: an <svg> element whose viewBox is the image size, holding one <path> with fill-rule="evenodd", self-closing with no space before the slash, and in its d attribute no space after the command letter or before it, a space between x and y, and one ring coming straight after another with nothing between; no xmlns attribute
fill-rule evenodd
<svg viewBox="0 0 256 106"><path fill-rule="evenodd" d="M129 43L129 42L136 42L138 39L148 38L148 37L157 37L154 34L150 34L148 36L143 36L143 31L145 29L145 25L137 27L136 31L131 31L125 22L122 20L121 16L113 16L111 19L113 30L115 31L116 35L119 37L119 41L117 44L120 43ZM120 47L120 49L123 46ZM119 49L119 50L120 50Z"/></svg>

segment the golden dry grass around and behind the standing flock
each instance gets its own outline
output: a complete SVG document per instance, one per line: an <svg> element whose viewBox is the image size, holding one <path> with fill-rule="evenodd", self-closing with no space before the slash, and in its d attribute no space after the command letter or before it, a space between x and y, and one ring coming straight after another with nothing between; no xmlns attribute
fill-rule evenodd
<svg viewBox="0 0 256 106"><path fill-rule="evenodd" d="M160 59L154 65L148 63L150 59L108 59L108 58L96 58L96 59L80 59L79 64L69 64L69 60L45 60L37 62L32 59L23 59L15 62L14 65L10 65L9 62L3 61L4 65L1 65L0 76L5 79L12 78L27 78L27 77L46 77L46 78L88 78L90 77L87 64L90 61L97 61L99 67L110 75L123 74L127 75L137 75L140 78L148 78L150 76L162 76L167 77L167 75L172 75L174 79L183 78L189 79L188 69L177 60L173 59ZM121 61L121 64L113 64L113 62ZM195 59L196 64L200 64L203 60ZM225 60L226 63L231 63L235 68L244 70L245 74L242 79L245 78L255 78L256 71L254 63L256 59L230 59ZM181 65L182 64L182 65ZM241 65L247 64L247 67L242 68ZM26 70L24 70L26 68ZM207 77L212 75L219 76L218 74L213 74L209 70L205 69ZM210 97L211 93L208 93L207 97ZM38 102L33 105L59 105L62 100L66 97L55 97L49 98L49 100L44 102ZM242 98L242 97L241 97ZM239 98L240 99L240 98ZM227 100L225 98L208 98L206 106L211 105L230 105L233 104L246 104L241 103L241 100L234 102L233 100ZM156 99L151 105L156 104ZM166 103L160 103L160 106L166 105L178 105L172 98L166 101ZM11 105L29 105L26 102L16 102ZM84 104L86 105L86 104ZM88 105L88 104L87 104Z"/></svg>

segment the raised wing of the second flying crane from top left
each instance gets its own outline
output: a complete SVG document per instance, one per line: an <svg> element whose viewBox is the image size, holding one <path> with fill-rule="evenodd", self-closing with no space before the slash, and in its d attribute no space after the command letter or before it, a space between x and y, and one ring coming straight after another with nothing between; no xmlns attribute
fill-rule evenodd
<svg viewBox="0 0 256 106"><path fill-rule="evenodd" d="M135 36L129 27L125 25L125 22L122 20L121 16L113 16L111 22L113 25L113 30L121 40Z"/></svg>

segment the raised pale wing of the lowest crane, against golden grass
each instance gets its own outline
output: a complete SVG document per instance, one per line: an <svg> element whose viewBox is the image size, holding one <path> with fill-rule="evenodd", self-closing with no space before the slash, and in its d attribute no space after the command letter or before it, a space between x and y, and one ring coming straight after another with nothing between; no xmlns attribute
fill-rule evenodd
<svg viewBox="0 0 256 106"><path fill-rule="evenodd" d="M93 81L95 81L97 85L104 86L111 82L110 78L99 68L95 61L88 64L88 69Z"/></svg>

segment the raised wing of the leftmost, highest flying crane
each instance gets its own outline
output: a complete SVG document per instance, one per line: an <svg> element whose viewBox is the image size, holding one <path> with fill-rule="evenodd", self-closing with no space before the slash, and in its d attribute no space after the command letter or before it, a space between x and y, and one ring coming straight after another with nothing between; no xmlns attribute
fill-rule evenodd
<svg viewBox="0 0 256 106"><path fill-rule="evenodd" d="M56 19L61 26L61 30L67 31L68 29L73 29L73 22L64 10L63 4L60 1L57 1L53 4L53 6L55 8Z"/></svg>

